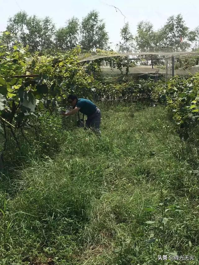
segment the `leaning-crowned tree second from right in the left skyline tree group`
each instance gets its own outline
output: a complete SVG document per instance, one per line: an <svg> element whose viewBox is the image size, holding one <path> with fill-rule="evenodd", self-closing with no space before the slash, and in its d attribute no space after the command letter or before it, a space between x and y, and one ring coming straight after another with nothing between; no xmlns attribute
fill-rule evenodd
<svg viewBox="0 0 199 265"><path fill-rule="evenodd" d="M61 50L75 48L79 38L79 20L72 17L67 21L67 25L55 32L55 45Z"/></svg>

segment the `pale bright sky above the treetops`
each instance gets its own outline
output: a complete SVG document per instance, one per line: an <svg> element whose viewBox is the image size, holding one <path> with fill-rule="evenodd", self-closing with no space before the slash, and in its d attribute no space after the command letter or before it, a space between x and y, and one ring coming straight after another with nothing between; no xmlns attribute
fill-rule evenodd
<svg viewBox="0 0 199 265"><path fill-rule="evenodd" d="M135 1L135 0L0 0L0 31L5 30L7 20L20 10L25 10L29 15L39 17L50 16L56 27L63 26L65 21L72 16L80 20L93 9L99 11L100 18L106 23L110 42L115 46L120 40L120 28L124 24L124 17L118 7L126 16L125 22L129 22L132 33L136 33L136 25L141 20L151 21L154 29L160 28L171 15L181 13L190 29L199 25L198 0L167 0L167 1Z"/></svg>

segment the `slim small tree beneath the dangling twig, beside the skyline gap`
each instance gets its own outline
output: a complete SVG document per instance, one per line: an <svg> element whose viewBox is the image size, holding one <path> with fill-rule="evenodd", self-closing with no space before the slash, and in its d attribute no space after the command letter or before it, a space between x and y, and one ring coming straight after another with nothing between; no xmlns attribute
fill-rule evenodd
<svg viewBox="0 0 199 265"><path fill-rule="evenodd" d="M133 49L133 35L129 29L129 23L125 23L123 28L120 30L120 36L122 37L123 42L120 42L119 45L119 52L126 52L130 53Z"/></svg>

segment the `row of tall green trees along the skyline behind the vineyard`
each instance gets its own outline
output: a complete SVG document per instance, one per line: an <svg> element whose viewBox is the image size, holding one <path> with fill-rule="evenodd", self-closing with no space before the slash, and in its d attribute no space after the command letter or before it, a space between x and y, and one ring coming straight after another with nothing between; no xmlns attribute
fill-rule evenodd
<svg viewBox="0 0 199 265"><path fill-rule="evenodd" d="M12 49L15 43L21 43L23 47L28 45L30 52L49 49L67 51L77 45L84 52L110 50L105 22L95 10L81 21L74 16L67 19L66 25L58 29L50 17L28 16L25 11L20 11L8 19L6 33L0 39L8 49ZM134 36L127 22L120 29L120 38L116 47L122 53L191 51L199 48L199 26L189 29L183 16L178 14L170 16L158 30L154 30L150 21L140 21Z"/></svg>

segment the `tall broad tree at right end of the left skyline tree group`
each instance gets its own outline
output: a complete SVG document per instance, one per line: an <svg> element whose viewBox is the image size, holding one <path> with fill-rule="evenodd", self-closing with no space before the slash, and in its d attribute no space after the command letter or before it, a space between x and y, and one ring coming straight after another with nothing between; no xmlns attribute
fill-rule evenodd
<svg viewBox="0 0 199 265"><path fill-rule="evenodd" d="M81 47L86 51L95 49L106 49L108 44L108 33L105 23L99 19L96 11L91 11L81 22Z"/></svg>

